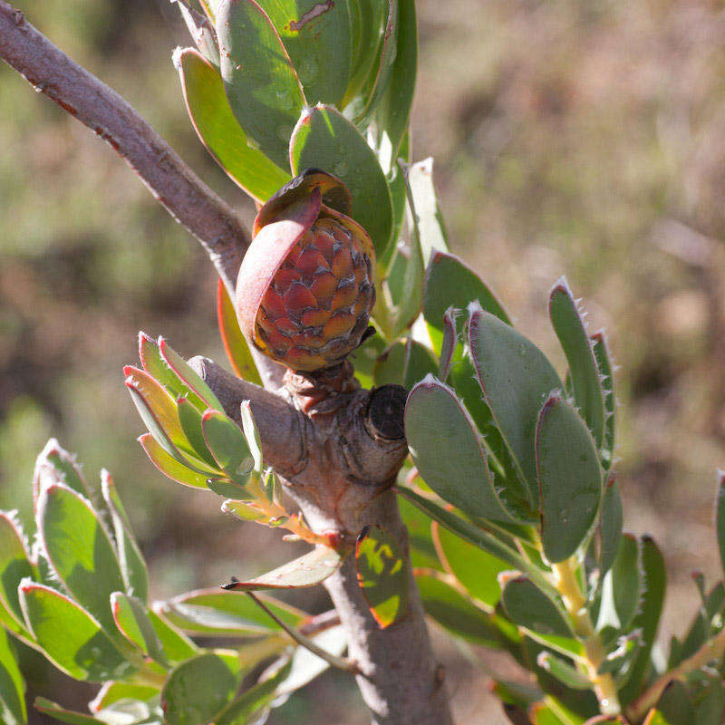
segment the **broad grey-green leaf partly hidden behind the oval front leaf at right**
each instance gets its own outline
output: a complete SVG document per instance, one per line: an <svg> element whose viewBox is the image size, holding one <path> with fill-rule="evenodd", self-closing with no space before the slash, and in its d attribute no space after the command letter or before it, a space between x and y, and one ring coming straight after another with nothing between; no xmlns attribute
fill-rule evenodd
<svg viewBox="0 0 725 725"><path fill-rule="evenodd" d="M561 381L544 353L513 327L475 303L469 311L468 342L478 384L518 475L538 501L536 422L549 394L561 390Z"/></svg>

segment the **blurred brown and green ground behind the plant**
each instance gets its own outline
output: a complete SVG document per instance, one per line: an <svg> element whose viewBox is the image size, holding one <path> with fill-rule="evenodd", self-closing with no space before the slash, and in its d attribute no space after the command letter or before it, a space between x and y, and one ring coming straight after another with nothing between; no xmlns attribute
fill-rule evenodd
<svg viewBox="0 0 725 725"><path fill-rule="evenodd" d="M130 101L214 189L252 205L192 131L171 65L190 44L167 0L17 0L32 23ZM725 5L706 0L419 0L414 155L435 157L453 251L558 362L546 292L567 275L614 349L625 527L670 570L662 642L717 570L725 467ZM0 507L28 518L34 458L56 436L89 477L111 470L163 598L295 554L218 498L152 469L121 366L136 333L224 355L216 279L126 165L0 65ZM296 597L312 611L323 592ZM456 718L503 723L480 669L438 634ZM489 669L508 668L474 652ZM93 689L24 654L38 692ZM34 715L34 722L43 720ZM270 722L362 725L327 674Z"/></svg>

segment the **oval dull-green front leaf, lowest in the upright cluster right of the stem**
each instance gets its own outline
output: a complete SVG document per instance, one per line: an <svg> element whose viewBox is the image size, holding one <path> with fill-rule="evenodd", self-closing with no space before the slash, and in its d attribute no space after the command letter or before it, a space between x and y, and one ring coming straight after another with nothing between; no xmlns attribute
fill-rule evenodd
<svg viewBox="0 0 725 725"><path fill-rule="evenodd" d="M536 427L541 492L541 542L550 562L582 544L602 498L602 469L594 440L572 405L558 394L544 404Z"/></svg>

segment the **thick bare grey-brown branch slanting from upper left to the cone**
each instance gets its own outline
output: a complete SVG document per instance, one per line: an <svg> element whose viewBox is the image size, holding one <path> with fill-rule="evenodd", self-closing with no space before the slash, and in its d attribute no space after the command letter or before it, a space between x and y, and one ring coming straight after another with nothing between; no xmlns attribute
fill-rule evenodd
<svg viewBox="0 0 725 725"><path fill-rule="evenodd" d="M0 0L0 58L111 144L171 216L198 238L231 295L249 244L235 212L128 102Z"/></svg>

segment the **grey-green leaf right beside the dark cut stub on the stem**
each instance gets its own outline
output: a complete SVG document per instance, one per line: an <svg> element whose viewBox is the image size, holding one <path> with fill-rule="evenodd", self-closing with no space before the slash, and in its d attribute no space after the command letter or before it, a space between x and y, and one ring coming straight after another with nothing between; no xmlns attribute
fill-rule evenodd
<svg viewBox="0 0 725 725"><path fill-rule="evenodd" d="M441 498L470 516L510 520L475 423L455 393L432 375L408 396L405 431L420 476Z"/></svg>

